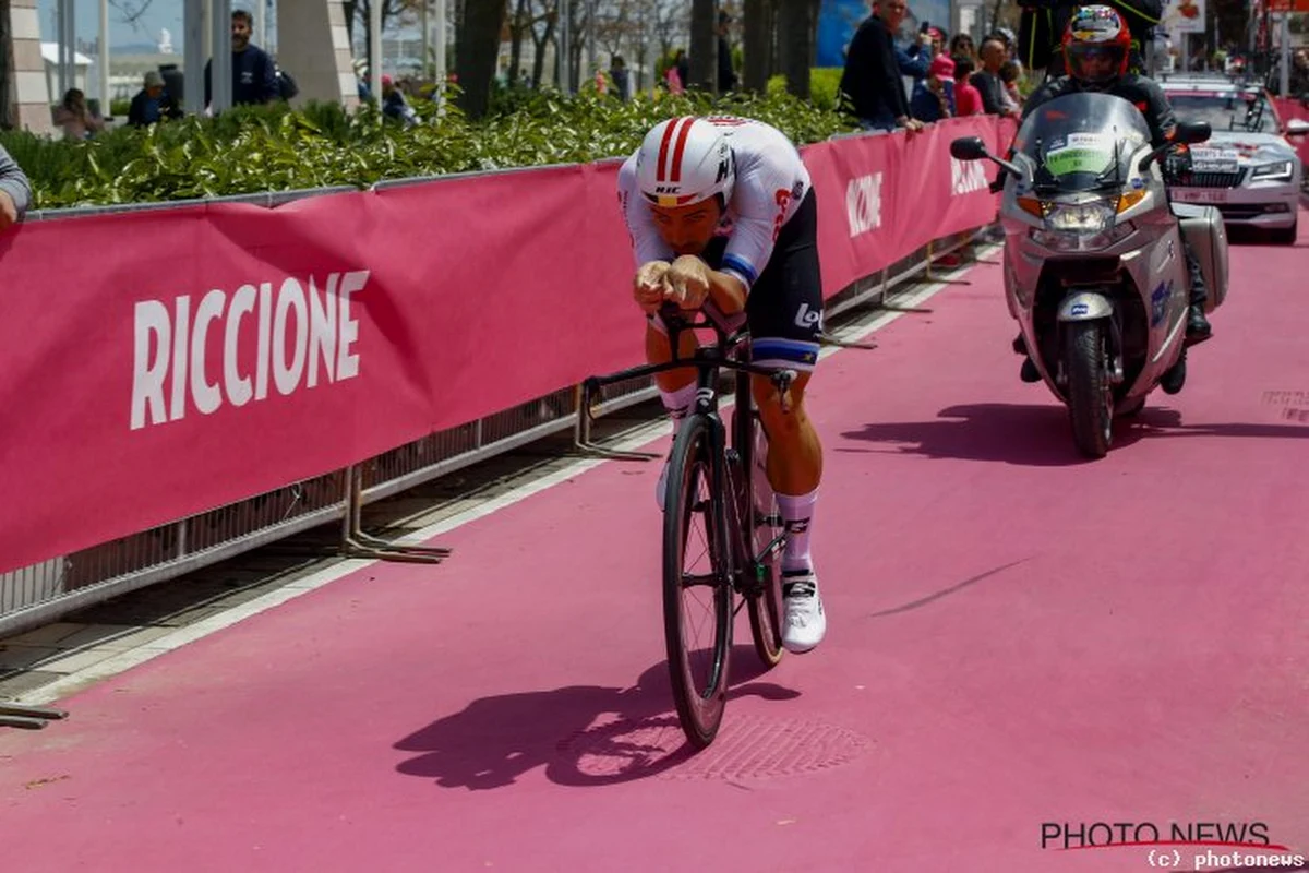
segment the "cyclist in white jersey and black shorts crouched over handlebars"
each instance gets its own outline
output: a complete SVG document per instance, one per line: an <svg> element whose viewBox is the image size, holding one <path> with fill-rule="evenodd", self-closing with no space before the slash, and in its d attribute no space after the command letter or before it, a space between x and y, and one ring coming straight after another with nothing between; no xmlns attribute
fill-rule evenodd
<svg viewBox="0 0 1309 873"><path fill-rule="evenodd" d="M751 377L751 390L787 531L783 645L808 652L827 627L809 546L822 478L822 445L804 404L822 331L818 205L809 173L791 140L763 122L682 116L645 135L619 170L618 198L637 264L632 291L647 317L651 364L672 360L660 310L673 304L703 309L729 331L747 323L753 361L797 373L785 411L770 380ZM679 336L679 355L692 353L692 331ZM695 402L695 372L669 370L656 382L681 427ZM661 508L666 476L665 463Z"/></svg>

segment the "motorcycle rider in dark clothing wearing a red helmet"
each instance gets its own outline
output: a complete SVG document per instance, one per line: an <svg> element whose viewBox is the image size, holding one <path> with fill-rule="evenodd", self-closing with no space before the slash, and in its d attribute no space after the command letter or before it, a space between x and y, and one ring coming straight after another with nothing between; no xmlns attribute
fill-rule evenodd
<svg viewBox="0 0 1309 873"><path fill-rule="evenodd" d="M1148 76L1127 72L1132 38L1123 17L1110 7L1083 7L1068 21L1063 37L1063 54L1067 59L1068 75L1047 80L1038 88L1022 110L1024 120L1042 103L1077 92L1101 92L1123 97L1145 116L1151 130L1152 145L1166 144L1174 132L1177 119L1173 107L1164 96L1164 89ZM1192 346L1208 339L1212 329L1204 317L1204 302L1208 293L1204 275L1194 249L1182 236L1182 250L1186 254L1186 267L1191 277L1190 309L1186 317L1186 343ZM1022 381L1039 382L1041 373L1030 357L1022 335L1013 343L1014 351L1024 355Z"/></svg>

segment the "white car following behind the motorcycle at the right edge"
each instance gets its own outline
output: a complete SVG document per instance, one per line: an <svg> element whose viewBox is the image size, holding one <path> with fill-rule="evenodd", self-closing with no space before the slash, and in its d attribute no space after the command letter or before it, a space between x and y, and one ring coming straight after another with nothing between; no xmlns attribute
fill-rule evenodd
<svg viewBox="0 0 1309 873"><path fill-rule="evenodd" d="M1309 123L1283 123L1267 92L1227 79L1168 76L1160 85L1178 120L1213 128L1207 143L1190 148L1190 169L1169 179L1173 200L1212 204L1230 225L1264 228L1276 242L1293 243L1304 168L1287 137L1304 136Z"/></svg>

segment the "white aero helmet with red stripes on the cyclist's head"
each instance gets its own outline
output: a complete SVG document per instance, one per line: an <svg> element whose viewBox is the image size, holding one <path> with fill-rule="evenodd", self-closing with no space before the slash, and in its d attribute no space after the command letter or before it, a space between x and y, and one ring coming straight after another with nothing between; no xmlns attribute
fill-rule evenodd
<svg viewBox="0 0 1309 873"><path fill-rule="evenodd" d="M700 118L670 118L656 124L636 153L636 185L648 202L691 205L723 195L732 199L736 166L726 136Z"/></svg>

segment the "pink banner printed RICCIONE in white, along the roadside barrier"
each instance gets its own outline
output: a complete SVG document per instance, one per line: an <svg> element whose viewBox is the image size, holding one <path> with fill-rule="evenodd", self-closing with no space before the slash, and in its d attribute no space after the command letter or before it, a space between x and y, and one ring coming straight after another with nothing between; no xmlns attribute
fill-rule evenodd
<svg viewBox="0 0 1309 873"><path fill-rule="evenodd" d="M805 149L825 296L991 221L949 140ZM380 454L641 360L618 162L0 238L0 572ZM961 174L962 173L962 174ZM988 171L990 174L990 171Z"/></svg>

